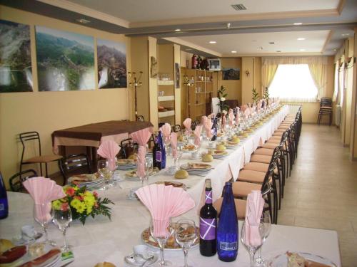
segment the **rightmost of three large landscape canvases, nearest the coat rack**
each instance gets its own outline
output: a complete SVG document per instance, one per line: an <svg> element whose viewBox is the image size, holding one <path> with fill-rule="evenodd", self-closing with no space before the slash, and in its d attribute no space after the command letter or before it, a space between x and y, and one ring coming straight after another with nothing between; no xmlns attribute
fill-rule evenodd
<svg viewBox="0 0 357 267"><path fill-rule="evenodd" d="M98 87L126 88L125 43L96 40L98 55Z"/></svg>

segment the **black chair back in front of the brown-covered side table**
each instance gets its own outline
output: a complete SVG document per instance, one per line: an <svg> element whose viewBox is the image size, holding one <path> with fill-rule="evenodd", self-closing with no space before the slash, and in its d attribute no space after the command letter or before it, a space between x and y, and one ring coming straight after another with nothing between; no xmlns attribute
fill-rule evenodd
<svg viewBox="0 0 357 267"><path fill-rule="evenodd" d="M59 169L66 184L67 179L74 174L91 173L91 164L85 154L69 155L60 159Z"/></svg>

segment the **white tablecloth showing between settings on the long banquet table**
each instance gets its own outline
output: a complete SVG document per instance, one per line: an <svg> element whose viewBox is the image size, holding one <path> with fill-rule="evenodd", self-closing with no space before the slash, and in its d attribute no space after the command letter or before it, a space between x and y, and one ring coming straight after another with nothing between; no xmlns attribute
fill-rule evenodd
<svg viewBox="0 0 357 267"><path fill-rule="evenodd" d="M228 179L236 179L239 169L249 161L251 153L265 142L280 125L283 118L288 114L285 106L273 115L271 119L258 127L246 140L242 140L235 150L228 150L229 155L223 159L214 159L213 169L206 177L190 175L188 179L180 180L186 184L187 192L196 202L196 209L183 214L184 218L194 219L198 222L198 209L202 204L202 192L204 180L209 177L213 184L213 198L221 195L224 182ZM205 144L201 145L205 149ZM189 154L183 155L181 164L189 159ZM171 159L167 164L171 164ZM121 172L124 175L124 171ZM149 183L157 181L175 180L172 175L161 170L159 174L149 177ZM177 180L176 180L177 181ZM75 261L71 266L94 266L99 261L110 261L116 266L126 266L124 256L132 253L132 247L141 244L141 232L149 226L150 214L140 201L128 199L129 190L139 187L141 182L125 179L116 183L106 192L99 192L101 197L109 197L114 201L112 206L112 219L96 217L87 219L86 225L82 226L79 221L74 221L67 232L69 243L74 246ZM9 218L0 221L1 238L11 239L20 234L21 226L33 224L36 229L40 227L34 222L32 216L32 199L28 194L9 192ZM241 226L241 224L240 224ZM63 242L61 233L55 226L49 231L51 239L57 243ZM292 226L273 225L271 234L263 246L263 256L270 258L286 251L301 251L315 253L330 258L337 266L341 266L336 231L323 229L308 229ZM182 251L166 251L165 256L175 264L183 264ZM248 266L248 253L243 245L239 244L238 259L233 263L218 261L217 256L210 258L199 254L198 248L191 248L188 261L193 266Z"/></svg>

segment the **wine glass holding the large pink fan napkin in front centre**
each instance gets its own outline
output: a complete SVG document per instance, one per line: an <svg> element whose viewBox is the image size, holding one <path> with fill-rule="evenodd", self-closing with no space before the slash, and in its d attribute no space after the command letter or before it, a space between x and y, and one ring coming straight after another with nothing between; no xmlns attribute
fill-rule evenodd
<svg viewBox="0 0 357 267"><path fill-rule="evenodd" d="M159 266L171 266L171 261L164 259L164 247L167 239L174 234L174 227L172 227L171 220L157 220L151 219L150 221L150 234L157 241L160 248L160 262Z"/></svg>

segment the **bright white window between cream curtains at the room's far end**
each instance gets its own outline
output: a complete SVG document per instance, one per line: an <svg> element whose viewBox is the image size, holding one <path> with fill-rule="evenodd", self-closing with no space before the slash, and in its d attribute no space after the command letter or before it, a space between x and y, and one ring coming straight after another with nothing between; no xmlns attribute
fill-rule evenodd
<svg viewBox="0 0 357 267"><path fill-rule="evenodd" d="M279 64L269 86L271 98L286 102L314 102L317 93L308 64Z"/></svg>

